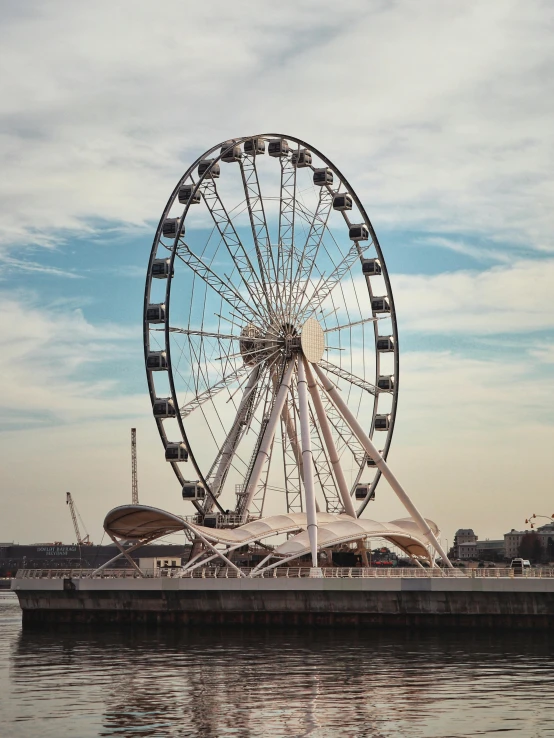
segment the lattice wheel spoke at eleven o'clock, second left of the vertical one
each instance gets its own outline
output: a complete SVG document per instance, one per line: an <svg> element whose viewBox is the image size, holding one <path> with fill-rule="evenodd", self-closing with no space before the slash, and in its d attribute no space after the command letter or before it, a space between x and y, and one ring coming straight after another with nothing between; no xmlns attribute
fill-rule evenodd
<svg viewBox="0 0 554 738"><path fill-rule="evenodd" d="M261 307L263 302L266 306L270 304L270 297L267 292L263 277L260 281L258 273L254 269L250 257L248 256L238 233L235 230L233 221L229 217L225 205L223 204L215 180L204 180L200 188L200 192L206 203L212 220L214 221L219 234L225 244L229 256L237 267L237 272L241 278L244 288L250 295L250 298ZM264 308L266 312L268 308ZM267 313L266 313L267 314Z"/></svg>

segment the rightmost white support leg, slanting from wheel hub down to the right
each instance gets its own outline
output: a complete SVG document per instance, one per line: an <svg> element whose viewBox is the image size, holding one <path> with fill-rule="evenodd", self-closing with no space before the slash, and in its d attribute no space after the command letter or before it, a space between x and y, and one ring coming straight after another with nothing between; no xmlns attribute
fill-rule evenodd
<svg viewBox="0 0 554 738"><path fill-rule="evenodd" d="M414 503L411 501L411 499L409 498L408 494L405 492L400 482L397 480L397 478L394 476L392 471L389 469L389 467L387 466L387 463L385 462L385 460L383 459L379 451L375 448L373 443L370 441L369 437L365 434L362 426L358 423L358 421L356 420L356 418L354 417L354 415L348 408L348 405L344 402L344 400L340 396L338 389L325 376L325 373L317 366L317 364L314 364L314 369L323 385L323 389L325 390L327 396L329 397L333 405L336 407L336 409L339 411L339 413L342 415L346 423L350 426L350 429L352 430L354 435L358 438L359 442L362 444L366 452L369 454L369 456L371 456L372 459L374 459L377 468L382 473L382 475L385 477L387 482L390 484L396 496L402 502L406 510L415 520L421 532L425 535L425 537L429 540L429 542L432 543L433 548L442 558L443 562L448 567L453 568L448 556L446 555L446 552L444 551L444 549L438 542L437 537L435 536L435 534L429 527L429 524L427 523L423 515L419 512L419 510L414 505Z"/></svg>

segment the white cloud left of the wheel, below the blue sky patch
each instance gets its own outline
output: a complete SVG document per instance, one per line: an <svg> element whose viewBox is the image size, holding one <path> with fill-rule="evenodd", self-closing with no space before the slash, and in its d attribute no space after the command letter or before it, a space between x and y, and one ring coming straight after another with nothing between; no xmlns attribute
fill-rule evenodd
<svg viewBox="0 0 554 738"><path fill-rule="evenodd" d="M123 417L143 408L113 378L89 376L93 365L110 367L134 332L92 325L80 309L39 305L33 295L4 294L0 303L0 401L2 427L75 423L83 417ZM104 378L102 378L104 377ZM126 396L124 396L126 395ZM144 409L146 409L144 407Z"/></svg>

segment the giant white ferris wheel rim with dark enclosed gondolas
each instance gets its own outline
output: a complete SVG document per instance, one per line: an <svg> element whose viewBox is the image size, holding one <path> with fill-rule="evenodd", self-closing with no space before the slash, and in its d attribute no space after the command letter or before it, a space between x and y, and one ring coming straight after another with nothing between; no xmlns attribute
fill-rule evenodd
<svg viewBox="0 0 554 738"><path fill-rule="evenodd" d="M188 168L152 246L144 351L165 458L205 524L374 498L380 458L353 428L386 459L394 301L359 198L314 147L238 138Z"/></svg>

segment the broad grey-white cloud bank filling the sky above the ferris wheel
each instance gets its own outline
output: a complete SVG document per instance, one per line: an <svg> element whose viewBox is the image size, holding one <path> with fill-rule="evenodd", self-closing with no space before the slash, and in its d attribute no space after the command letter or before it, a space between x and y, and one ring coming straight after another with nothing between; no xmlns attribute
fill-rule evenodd
<svg viewBox="0 0 554 738"><path fill-rule="evenodd" d="M202 148L264 129L330 155L379 227L553 247L550 4L130 8L3 16L4 248L144 227Z"/></svg>

